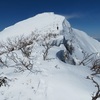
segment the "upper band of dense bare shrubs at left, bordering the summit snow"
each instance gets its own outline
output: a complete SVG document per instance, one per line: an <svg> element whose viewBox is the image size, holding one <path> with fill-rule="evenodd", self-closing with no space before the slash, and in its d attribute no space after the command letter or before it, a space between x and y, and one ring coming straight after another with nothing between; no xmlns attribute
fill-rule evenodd
<svg viewBox="0 0 100 100"><path fill-rule="evenodd" d="M32 33L31 35L27 37L22 35L14 39L8 38L7 42L0 42L0 55L4 53L12 52L14 50L22 50L22 52L25 54L30 49L27 46L32 45L33 41L37 41L36 40L37 37L38 35L35 35L34 33ZM26 47L27 47L27 50L26 50Z"/></svg>

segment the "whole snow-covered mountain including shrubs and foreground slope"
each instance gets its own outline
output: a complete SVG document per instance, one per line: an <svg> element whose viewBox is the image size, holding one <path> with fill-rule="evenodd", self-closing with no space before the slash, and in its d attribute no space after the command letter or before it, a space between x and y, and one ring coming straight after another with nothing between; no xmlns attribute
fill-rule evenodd
<svg viewBox="0 0 100 100"><path fill-rule="evenodd" d="M96 88L86 77L99 52L100 42L54 13L5 28L0 32L0 99L91 100Z"/></svg>

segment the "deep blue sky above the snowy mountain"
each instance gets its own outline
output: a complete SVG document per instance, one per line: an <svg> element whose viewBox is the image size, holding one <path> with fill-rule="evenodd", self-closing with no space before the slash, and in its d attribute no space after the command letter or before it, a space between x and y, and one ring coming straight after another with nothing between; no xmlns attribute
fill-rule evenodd
<svg viewBox="0 0 100 100"><path fill-rule="evenodd" d="M72 27L100 37L100 0L0 0L0 31L42 12L64 15Z"/></svg>

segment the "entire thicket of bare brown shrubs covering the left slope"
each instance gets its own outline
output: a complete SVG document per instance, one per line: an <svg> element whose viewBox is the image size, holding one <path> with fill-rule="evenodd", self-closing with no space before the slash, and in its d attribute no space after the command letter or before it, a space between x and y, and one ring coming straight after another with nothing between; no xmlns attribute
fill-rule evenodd
<svg viewBox="0 0 100 100"><path fill-rule="evenodd" d="M20 70L30 70L33 67L32 50L34 43L38 41L38 34L32 33L29 36L15 37L14 39L7 39L7 42L0 42L0 56L5 58L7 62L13 62L11 66L17 66ZM3 66L10 67L0 57L0 63Z"/></svg>

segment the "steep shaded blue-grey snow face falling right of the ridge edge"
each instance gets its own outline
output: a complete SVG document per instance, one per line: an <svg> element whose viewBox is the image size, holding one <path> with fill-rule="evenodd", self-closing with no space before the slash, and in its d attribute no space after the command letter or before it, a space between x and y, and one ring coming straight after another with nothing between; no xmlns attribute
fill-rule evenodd
<svg viewBox="0 0 100 100"><path fill-rule="evenodd" d="M64 34L65 47L67 44L67 47L70 46L73 49L70 57L76 64L79 64L88 55L93 54L88 58L92 60L100 56L100 42L88 36L85 32L72 27L69 27L69 29L63 27L62 33Z"/></svg>

